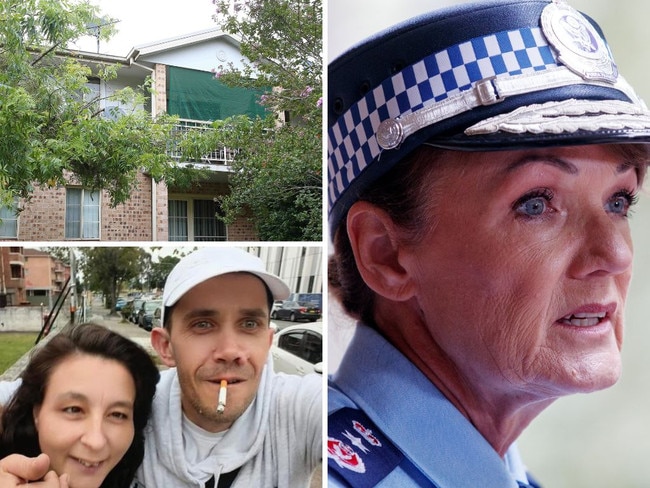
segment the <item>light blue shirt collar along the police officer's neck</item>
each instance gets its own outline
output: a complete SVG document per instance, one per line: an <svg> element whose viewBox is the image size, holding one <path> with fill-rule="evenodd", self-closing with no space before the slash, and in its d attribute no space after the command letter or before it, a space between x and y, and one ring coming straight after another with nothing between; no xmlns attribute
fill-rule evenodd
<svg viewBox="0 0 650 488"><path fill-rule="evenodd" d="M397 349L357 325L332 383L441 488L517 487L525 469L514 446L499 457L474 426Z"/></svg>

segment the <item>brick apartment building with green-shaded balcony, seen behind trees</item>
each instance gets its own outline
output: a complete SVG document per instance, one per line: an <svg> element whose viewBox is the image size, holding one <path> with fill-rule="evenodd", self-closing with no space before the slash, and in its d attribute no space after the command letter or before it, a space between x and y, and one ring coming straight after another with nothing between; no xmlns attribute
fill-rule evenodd
<svg viewBox="0 0 650 488"><path fill-rule="evenodd" d="M261 114L255 103L258 93L232 89L212 74L218 65L240 65L238 42L217 29L179 36L136 47L126 57L75 53L89 66L110 63L119 67L118 77L108 82L89 79L88 86L101 98L106 116L120 109L105 97L113 91L142 85L153 78L155 97L152 116L167 112L180 118L178 130L205 130L211 121L231 115ZM111 105L112 104L112 105ZM226 226L214 197L229 191L232 152L216 149L199 163L210 176L191 190L156 184L138 176L131 199L110 208L105 192L92 192L72 182L65 187L36 188L29 202L17 202L22 211L0 209L0 239L18 241L251 241L257 235L252 224L241 218ZM174 159L170 154L170 160ZM176 158L178 161L178 158ZM182 161L178 161L183 164Z"/></svg>

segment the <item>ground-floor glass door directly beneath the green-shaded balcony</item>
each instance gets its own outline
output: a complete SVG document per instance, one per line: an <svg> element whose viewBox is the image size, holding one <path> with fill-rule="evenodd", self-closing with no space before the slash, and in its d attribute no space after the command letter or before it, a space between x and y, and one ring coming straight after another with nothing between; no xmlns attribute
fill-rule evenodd
<svg viewBox="0 0 650 488"><path fill-rule="evenodd" d="M219 205L212 199L169 200L170 241L225 241L226 225L217 218Z"/></svg>

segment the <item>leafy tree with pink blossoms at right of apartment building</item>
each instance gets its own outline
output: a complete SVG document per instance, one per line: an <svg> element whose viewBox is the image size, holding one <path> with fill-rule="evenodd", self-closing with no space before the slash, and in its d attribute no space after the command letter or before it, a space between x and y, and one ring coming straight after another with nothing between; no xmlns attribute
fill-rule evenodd
<svg viewBox="0 0 650 488"><path fill-rule="evenodd" d="M220 27L241 40L242 54L253 61L243 69L219 66L216 76L231 86L274 87L260 100L270 109L267 120L233 117L204 136L239 148L231 193L221 201L224 220L250 213L262 240L320 240L321 1L235 0L234 10L226 0L215 5ZM278 114L289 114L290 122Z"/></svg>

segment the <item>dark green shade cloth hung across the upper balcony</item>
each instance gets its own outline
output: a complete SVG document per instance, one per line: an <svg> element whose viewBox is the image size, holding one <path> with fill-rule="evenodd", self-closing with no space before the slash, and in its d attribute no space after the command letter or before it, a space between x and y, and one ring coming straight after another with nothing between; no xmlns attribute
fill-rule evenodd
<svg viewBox="0 0 650 488"><path fill-rule="evenodd" d="M167 113L191 120L223 120L232 115L264 117L257 101L267 90L230 88L212 73L167 67Z"/></svg>

